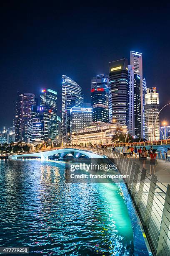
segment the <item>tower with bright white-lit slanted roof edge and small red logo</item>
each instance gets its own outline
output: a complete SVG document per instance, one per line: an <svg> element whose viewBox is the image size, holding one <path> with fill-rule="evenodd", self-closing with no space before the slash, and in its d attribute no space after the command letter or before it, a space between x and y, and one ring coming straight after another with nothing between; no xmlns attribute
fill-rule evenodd
<svg viewBox="0 0 170 256"><path fill-rule="evenodd" d="M40 94L41 111L43 108L44 140L56 140L57 136L57 92L43 89Z"/></svg>

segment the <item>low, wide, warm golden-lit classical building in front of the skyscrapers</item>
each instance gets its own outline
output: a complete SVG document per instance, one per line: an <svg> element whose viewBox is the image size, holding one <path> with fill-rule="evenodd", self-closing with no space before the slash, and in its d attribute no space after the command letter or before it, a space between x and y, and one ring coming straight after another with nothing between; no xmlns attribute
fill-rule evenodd
<svg viewBox="0 0 170 256"><path fill-rule="evenodd" d="M92 122L89 127L72 134L72 144L92 145L111 144L116 133L127 133L127 126L117 126L113 123Z"/></svg>

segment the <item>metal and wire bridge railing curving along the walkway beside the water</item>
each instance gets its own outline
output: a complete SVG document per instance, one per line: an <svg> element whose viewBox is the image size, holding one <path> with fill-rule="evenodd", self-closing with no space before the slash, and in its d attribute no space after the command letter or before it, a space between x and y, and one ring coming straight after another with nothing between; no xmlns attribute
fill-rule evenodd
<svg viewBox="0 0 170 256"><path fill-rule="evenodd" d="M76 147L77 148L77 147ZM87 148L112 160L123 175L129 175L126 185L140 216L153 255L170 255L170 185L165 186L154 174L149 174L135 161L108 148Z"/></svg>

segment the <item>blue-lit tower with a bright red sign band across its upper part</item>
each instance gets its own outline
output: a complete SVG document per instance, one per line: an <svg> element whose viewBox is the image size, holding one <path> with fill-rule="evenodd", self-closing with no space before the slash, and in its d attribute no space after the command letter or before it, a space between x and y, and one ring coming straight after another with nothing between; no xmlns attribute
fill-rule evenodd
<svg viewBox="0 0 170 256"><path fill-rule="evenodd" d="M91 80L92 120L108 123L109 79L99 74Z"/></svg>

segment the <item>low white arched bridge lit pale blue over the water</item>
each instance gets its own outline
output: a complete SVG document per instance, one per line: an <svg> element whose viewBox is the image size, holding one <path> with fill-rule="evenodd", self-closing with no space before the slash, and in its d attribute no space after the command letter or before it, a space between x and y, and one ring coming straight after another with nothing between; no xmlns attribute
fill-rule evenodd
<svg viewBox="0 0 170 256"><path fill-rule="evenodd" d="M43 152L37 152L37 153L30 153L30 154L20 154L20 155L13 155L12 158L41 158L42 160L48 160L49 157L58 155L58 159L63 159L65 156L73 156L73 158L77 159L80 157L85 158L101 158L100 155L95 154L92 151L84 151L79 149L73 149L73 148L63 148L63 149L55 149L55 150L49 150L49 151L43 151Z"/></svg>

